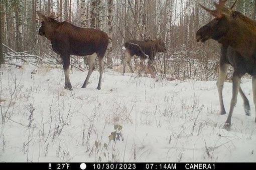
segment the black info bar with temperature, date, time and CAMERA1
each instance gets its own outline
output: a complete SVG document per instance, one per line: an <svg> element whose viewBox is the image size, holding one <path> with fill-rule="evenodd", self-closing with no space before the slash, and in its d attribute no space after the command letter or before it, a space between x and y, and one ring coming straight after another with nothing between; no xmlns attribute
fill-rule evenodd
<svg viewBox="0 0 256 170"><path fill-rule="evenodd" d="M103 169L252 169L256 162L2 162L1 169L103 170Z"/></svg>

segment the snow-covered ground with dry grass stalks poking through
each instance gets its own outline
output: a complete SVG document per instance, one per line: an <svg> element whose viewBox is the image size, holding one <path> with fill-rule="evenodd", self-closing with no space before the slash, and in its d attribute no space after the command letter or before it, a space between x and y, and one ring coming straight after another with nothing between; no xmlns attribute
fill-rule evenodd
<svg viewBox="0 0 256 170"><path fill-rule="evenodd" d="M61 65L3 65L0 74L2 162L256 162L251 79L241 83L251 115L238 96L227 131L216 81L105 69L97 90L97 70L81 88L87 70L73 68L70 91L63 88ZM227 112L231 94L232 84L225 82ZM115 140L109 140L111 132Z"/></svg>

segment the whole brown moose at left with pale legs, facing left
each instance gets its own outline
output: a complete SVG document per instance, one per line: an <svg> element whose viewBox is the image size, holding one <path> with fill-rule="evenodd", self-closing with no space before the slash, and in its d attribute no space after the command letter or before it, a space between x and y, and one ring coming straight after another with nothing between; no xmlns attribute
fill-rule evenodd
<svg viewBox="0 0 256 170"><path fill-rule="evenodd" d="M39 28L39 34L45 36L52 43L54 52L61 57L64 75L65 89L72 90L69 79L70 55L90 55L88 58L89 70L82 88L86 87L92 71L95 69L95 59L99 62L99 82L97 89L101 88L101 79L103 74L103 58L108 45L108 36L105 32L75 26L66 21L59 22L58 16L54 12L50 16L37 11L42 25Z"/></svg>

